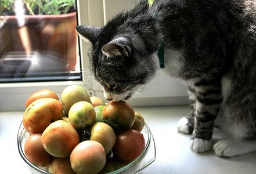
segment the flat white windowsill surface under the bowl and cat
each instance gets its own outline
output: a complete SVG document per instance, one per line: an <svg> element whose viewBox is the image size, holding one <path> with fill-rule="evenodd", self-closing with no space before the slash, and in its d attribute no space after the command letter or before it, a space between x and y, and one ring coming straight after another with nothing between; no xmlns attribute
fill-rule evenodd
<svg viewBox="0 0 256 174"><path fill-rule="evenodd" d="M188 106L134 107L143 115L156 143L156 161L141 173L255 173L256 153L219 158L211 150L196 154L189 148L189 135L176 131L176 123L190 113ZM1 170L29 173L17 150L17 132L23 112L0 113ZM214 130L212 141L221 139ZM12 158L7 158L12 157Z"/></svg>

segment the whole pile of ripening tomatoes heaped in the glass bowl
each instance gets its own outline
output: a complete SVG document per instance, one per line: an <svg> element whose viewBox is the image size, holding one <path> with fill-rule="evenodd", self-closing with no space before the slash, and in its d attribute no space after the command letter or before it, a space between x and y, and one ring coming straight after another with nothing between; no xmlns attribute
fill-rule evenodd
<svg viewBox="0 0 256 174"><path fill-rule="evenodd" d="M61 102L52 90L28 97L24 145L35 166L51 173L108 173L134 161L145 148L142 115L125 101L105 103L82 86L67 86Z"/></svg>

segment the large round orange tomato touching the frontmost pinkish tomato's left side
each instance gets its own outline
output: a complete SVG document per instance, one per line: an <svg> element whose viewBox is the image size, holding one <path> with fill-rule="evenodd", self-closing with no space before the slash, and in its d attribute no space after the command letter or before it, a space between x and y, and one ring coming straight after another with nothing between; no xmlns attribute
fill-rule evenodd
<svg viewBox="0 0 256 174"><path fill-rule="evenodd" d="M42 133L43 147L54 157L68 157L79 142L75 128L63 120L52 122Z"/></svg>

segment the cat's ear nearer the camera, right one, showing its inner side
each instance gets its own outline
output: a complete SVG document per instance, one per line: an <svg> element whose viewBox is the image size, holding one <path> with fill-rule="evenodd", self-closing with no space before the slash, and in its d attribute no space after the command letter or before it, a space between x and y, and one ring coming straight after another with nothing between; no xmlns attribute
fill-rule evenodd
<svg viewBox="0 0 256 174"><path fill-rule="evenodd" d="M129 41L125 38L117 38L102 47L102 52L108 57L126 56L131 54Z"/></svg>

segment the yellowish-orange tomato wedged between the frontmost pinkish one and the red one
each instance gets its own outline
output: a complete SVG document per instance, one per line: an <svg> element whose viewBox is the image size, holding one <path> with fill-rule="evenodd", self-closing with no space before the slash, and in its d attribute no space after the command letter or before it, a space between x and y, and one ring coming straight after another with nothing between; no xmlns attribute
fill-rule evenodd
<svg viewBox="0 0 256 174"><path fill-rule="evenodd" d="M96 122L91 127L91 138L104 147L106 154L109 154L116 143L116 133L110 125L104 122Z"/></svg>

